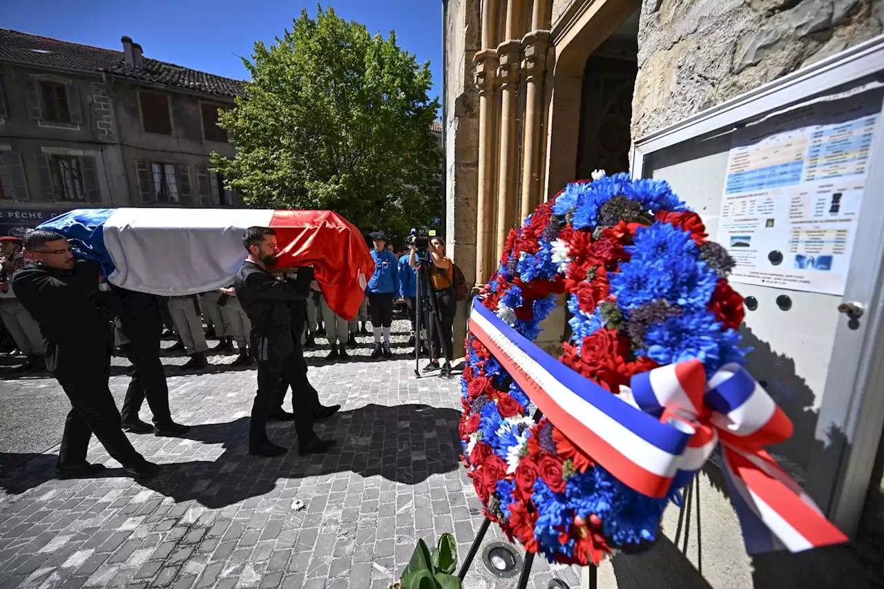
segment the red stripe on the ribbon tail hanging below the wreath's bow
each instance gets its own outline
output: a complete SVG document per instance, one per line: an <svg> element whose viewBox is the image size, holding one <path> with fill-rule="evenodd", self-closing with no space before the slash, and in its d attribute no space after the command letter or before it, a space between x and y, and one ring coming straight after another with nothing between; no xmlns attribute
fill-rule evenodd
<svg viewBox="0 0 884 589"><path fill-rule="evenodd" d="M847 541L847 536L834 527L819 511L805 503L789 486L759 469L756 464L733 448L723 447L723 450L728 455L728 462L735 475L742 478L752 493L765 501L813 547ZM772 532L776 534L775 531Z"/></svg>

